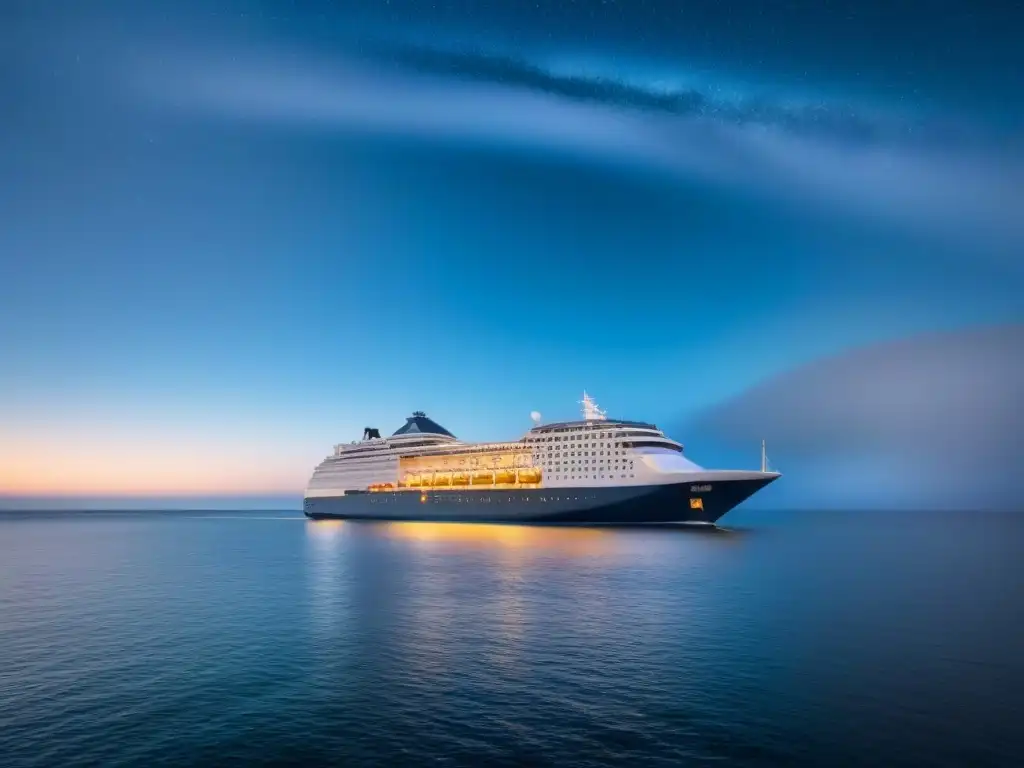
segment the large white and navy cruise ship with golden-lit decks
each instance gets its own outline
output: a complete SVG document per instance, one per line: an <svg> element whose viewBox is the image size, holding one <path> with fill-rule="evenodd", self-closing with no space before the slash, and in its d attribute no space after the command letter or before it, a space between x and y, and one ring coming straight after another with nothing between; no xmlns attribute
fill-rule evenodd
<svg viewBox="0 0 1024 768"><path fill-rule="evenodd" d="M779 477L705 469L653 424L609 419L584 392L583 419L512 442L463 442L421 411L390 437L367 427L335 445L303 500L313 519L632 525L717 522Z"/></svg>

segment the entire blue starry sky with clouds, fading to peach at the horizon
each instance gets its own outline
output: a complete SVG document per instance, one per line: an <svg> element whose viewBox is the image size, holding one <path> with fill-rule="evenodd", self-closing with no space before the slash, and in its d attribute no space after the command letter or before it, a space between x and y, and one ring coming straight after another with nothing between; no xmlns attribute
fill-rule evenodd
<svg viewBox="0 0 1024 768"><path fill-rule="evenodd" d="M587 389L766 504L1019 502L1024 11L771 5L4 3L0 494Z"/></svg>

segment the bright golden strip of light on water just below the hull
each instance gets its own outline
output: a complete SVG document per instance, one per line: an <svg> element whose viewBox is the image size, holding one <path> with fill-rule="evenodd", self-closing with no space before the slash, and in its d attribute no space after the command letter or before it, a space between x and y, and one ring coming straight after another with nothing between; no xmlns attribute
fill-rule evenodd
<svg viewBox="0 0 1024 768"><path fill-rule="evenodd" d="M381 532L419 544L455 544L466 549L498 547L512 552L538 551L572 557L609 555L613 534L600 528L555 528L467 522L388 522Z"/></svg>

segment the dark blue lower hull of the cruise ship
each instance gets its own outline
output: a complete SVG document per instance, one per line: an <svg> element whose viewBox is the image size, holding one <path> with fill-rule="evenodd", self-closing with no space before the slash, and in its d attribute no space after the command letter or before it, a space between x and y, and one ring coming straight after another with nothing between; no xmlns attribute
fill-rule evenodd
<svg viewBox="0 0 1024 768"><path fill-rule="evenodd" d="M776 476L616 487L359 493L307 498L303 507L305 515L312 519L578 525L714 523Z"/></svg>

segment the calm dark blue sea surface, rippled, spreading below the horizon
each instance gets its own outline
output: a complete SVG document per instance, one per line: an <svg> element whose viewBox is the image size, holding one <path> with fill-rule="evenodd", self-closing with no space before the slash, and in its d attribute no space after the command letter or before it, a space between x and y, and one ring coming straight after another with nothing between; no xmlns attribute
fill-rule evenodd
<svg viewBox="0 0 1024 768"><path fill-rule="evenodd" d="M1024 515L0 514L0 765L1024 765Z"/></svg>

